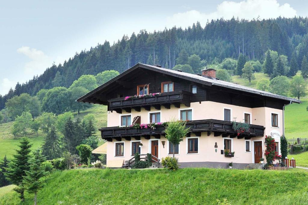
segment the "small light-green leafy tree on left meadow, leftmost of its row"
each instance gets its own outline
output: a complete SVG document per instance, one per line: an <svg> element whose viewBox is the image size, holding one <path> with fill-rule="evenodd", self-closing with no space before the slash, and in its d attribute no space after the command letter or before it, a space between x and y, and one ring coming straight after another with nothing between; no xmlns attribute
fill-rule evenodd
<svg viewBox="0 0 308 205"><path fill-rule="evenodd" d="M32 123L32 115L30 112L23 112L21 116L17 116L12 127L12 133L22 133L26 136L27 131L30 129Z"/></svg>

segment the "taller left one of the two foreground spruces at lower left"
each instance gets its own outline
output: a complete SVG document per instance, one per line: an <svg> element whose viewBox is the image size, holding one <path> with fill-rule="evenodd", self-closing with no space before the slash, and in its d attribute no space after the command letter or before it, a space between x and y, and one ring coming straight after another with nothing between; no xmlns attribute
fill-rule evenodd
<svg viewBox="0 0 308 205"><path fill-rule="evenodd" d="M22 176L26 175L26 171L29 171L29 158L30 158L30 148L31 144L28 138L23 137L18 144L19 149L16 151L16 154L13 155L13 159L9 163L8 168L4 175L6 178L17 187L14 188L14 191L20 194L19 198L24 201L24 186L22 183Z"/></svg>

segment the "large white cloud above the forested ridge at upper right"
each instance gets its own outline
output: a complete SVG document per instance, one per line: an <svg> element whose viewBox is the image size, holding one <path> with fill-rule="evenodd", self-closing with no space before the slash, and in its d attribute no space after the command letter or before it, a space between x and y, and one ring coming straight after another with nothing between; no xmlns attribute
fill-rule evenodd
<svg viewBox="0 0 308 205"><path fill-rule="evenodd" d="M206 5L205 5L206 6ZM285 3L280 5L277 0L246 0L241 2L224 1L217 5L216 11L212 13L201 13L197 10L190 10L184 13L173 14L172 17L167 18L167 26L187 27L194 22L201 22L205 25L207 20L224 18L230 19L233 16L245 19L258 18L277 18L294 17L297 15L290 4Z"/></svg>

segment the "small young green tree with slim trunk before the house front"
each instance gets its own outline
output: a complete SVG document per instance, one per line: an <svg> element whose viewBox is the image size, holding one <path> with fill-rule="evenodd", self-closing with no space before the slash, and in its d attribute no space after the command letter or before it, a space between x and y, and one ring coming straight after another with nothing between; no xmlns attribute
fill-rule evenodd
<svg viewBox="0 0 308 205"><path fill-rule="evenodd" d="M173 144L173 157L175 145L180 144L180 142L183 141L183 137L185 137L189 131L189 128L185 128L185 125L185 121L171 120L170 122L168 122L165 129L166 138L170 143Z"/></svg>

